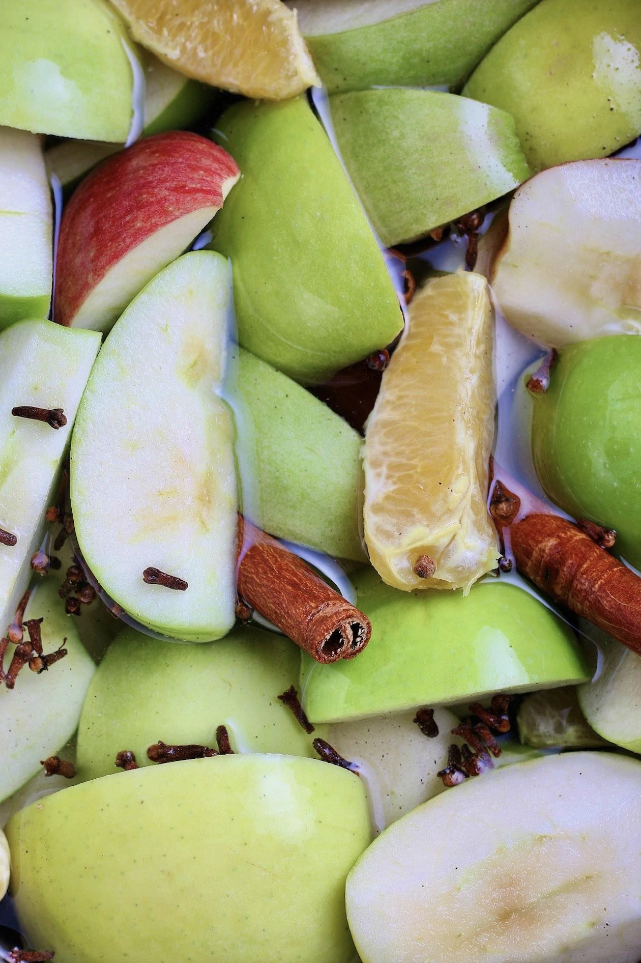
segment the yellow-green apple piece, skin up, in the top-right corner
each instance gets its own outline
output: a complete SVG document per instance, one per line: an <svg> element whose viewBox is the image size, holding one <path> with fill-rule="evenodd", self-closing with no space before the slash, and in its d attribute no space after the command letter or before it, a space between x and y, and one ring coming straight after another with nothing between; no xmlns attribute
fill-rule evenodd
<svg viewBox="0 0 641 963"><path fill-rule="evenodd" d="M511 114L533 170L605 157L641 133L637 0L541 0L464 93Z"/></svg>

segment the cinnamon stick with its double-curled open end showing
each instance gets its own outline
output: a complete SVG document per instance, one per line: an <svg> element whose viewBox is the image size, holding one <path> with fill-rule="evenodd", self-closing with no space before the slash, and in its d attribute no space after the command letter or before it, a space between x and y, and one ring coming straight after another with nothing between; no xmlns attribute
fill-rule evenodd
<svg viewBox="0 0 641 963"><path fill-rule="evenodd" d="M352 659L372 635L367 615L297 555L239 516L238 594L320 663Z"/></svg>

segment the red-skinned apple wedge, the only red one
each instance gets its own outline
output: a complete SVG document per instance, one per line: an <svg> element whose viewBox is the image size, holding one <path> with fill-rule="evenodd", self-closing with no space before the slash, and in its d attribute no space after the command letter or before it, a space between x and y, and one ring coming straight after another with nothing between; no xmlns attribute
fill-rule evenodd
<svg viewBox="0 0 641 963"><path fill-rule="evenodd" d="M187 131L156 134L108 158L64 208L56 321L109 330L190 246L239 176L226 151Z"/></svg>

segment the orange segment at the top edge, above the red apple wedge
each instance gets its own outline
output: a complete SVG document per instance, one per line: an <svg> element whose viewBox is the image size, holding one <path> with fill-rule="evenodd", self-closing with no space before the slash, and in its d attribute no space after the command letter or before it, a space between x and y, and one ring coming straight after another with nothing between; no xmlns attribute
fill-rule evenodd
<svg viewBox="0 0 641 963"><path fill-rule="evenodd" d="M280 0L112 0L135 39L175 70L225 91L284 100L320 85Z"/></svg>

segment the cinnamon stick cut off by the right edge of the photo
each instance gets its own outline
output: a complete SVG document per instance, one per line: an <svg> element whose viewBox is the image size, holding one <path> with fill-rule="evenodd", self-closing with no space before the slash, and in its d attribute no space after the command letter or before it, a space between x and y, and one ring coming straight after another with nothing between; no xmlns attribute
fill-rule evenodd
<svg viewBox="0 0 641 963"><path fill-rule="evenodd" d="M509 529L517 568L535 586L641 655L641 579L576 525L534 513Z"/></svg>

